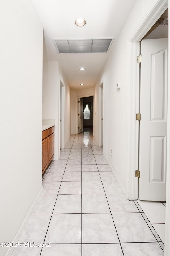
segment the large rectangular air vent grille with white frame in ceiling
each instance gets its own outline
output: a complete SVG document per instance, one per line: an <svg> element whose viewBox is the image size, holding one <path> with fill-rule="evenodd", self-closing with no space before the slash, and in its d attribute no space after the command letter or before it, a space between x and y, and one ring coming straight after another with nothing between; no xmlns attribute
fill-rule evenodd
<svg viewBox="0 0 170 256"><path fill-rule="evenodd" d="M107 53L114 37L54 39L58 53Z"/></svg>

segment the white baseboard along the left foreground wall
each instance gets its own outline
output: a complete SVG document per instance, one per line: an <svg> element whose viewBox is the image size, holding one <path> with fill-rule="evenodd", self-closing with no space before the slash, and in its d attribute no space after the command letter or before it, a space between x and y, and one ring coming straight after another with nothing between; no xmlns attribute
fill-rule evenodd
<svg viewBox="0 0 170 256"><path fill-rule="evenodd" d="M31 216L31 213L32 213L32 211L33 211L33 209L34 209L38 199L40 198L40 195L42 194L42 192L43 192L43 187L41 187L40 192L38 193L36 199L34 200L32 206L31 206L31 208L30 208L26 218L24 219L24 222L22 223L22 225L21 225L21 227L20 227L16 237L14 238L13 242L18 242L19 241L19 238L20 238L20 236L21 236L21 234L22 234L22 232L23 232L23 230L24 230L24 228L25 228L25 226L26 226L26 224L28 222L28 219ZM12 253L13 253L13 250L14 250L14 247L10 247L9 250L7 251L6 256L11 256Z"/></svg>

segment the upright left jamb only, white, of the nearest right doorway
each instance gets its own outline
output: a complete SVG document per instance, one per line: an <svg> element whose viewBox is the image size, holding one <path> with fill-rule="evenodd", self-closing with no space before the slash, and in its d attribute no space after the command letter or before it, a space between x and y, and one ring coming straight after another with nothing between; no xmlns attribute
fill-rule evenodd
<svg viewBox="0 0 170 256"><path fill-rule="evenodd" d="M126 156L126 193L129 200L138 199L138 178L135 170L138 170L138 131L139 122L135 115L139 111L139 64L136 65L139 55L140 43L128 42L130 56L128 97L127 97L127 156Z"/></svg>

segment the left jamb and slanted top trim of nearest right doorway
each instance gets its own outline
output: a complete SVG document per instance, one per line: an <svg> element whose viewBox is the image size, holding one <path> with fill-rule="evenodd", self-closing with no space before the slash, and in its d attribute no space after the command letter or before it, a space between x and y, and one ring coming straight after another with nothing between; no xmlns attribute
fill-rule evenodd
<svg viewBox="0 0 170 256"><path fill-rule="evenodd" d="M139 137L139 122L134 118L139 111L139 63L137 63L137 55L140 55L140 41L167 8L168 0L158 0L157 4L151 6L150 12L145 15L143 22L128 41L126 197L130 200L138 199L138 178L134 175L135 170L138 170Z"/></svg>

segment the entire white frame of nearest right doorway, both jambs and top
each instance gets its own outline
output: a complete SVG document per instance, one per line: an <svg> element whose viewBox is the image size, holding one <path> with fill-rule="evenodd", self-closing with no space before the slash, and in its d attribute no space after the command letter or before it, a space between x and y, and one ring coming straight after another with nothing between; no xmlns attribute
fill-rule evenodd
<svg viewBox="0 0 170 256"><path fill-rule="evenodd" d="M135 170L138 170L138 137L139 122L135 115L139 110L139 63L137 55L140 55L140 41L151 29L158 18L168 8L168 0L155 0L150 10L143 16L138 28L133 32L128 41L129 77L128 77L128 102L127 102L127 156L126 156L126 197L129 200L138 199L138 178ZM170 29L169 29L170 31ZM170 63L170 57L168 57ZM170 66L170 65L169 65ZM170 67L168 67L168 73ZM168 79L168 87L170 82ZM170 255L170 93L168 91L167 109L167 189L166 189L166 221L165 221L165 252Z"/></svg>

